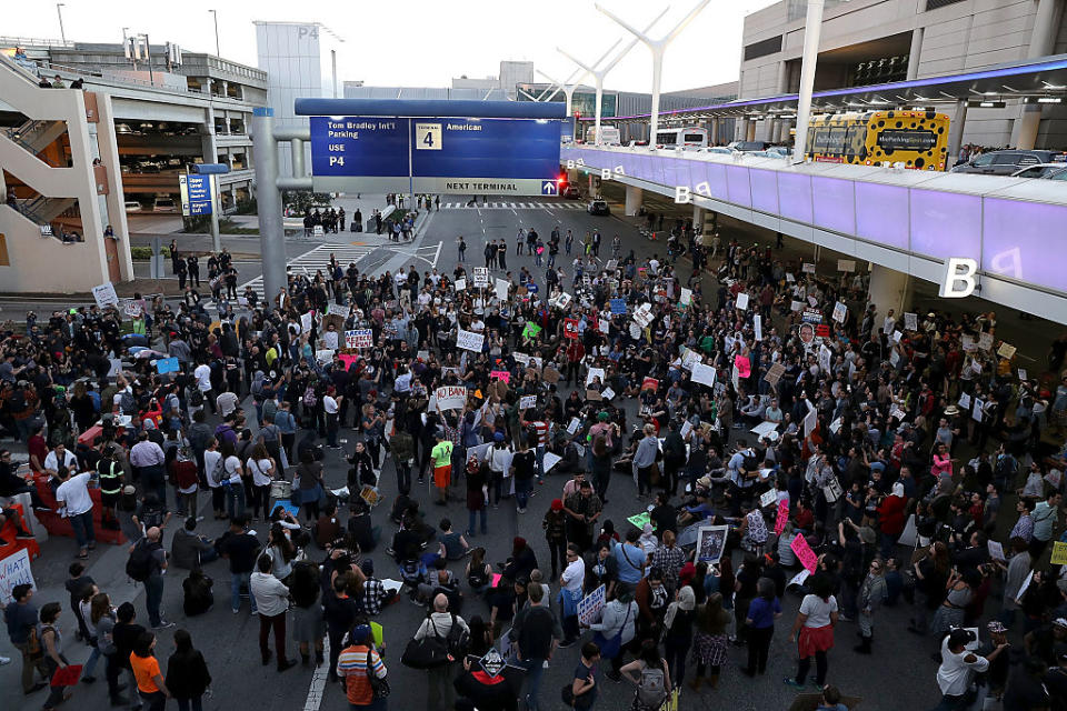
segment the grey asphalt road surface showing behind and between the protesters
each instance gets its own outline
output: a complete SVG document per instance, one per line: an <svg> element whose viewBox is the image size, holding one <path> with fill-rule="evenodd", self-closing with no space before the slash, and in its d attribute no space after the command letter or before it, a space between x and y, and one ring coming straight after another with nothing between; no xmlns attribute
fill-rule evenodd
<svg viewBox="0 0 1067 711"><path fill-rule="evenodd" d="M544 202L544 201L542 201ZM580 239L587 229L599 227L606 236L607 251L610 251L610 238L616 231L624 238L624 253L629 249L637 250L639 257L650 254L652 251L661 251L660 244L651 244L637 236L636 229L630 223L617 217L590 217L580 210L568 210L566 212L552 210L550 208L517 209L512 212L510 209L489 210L489 209L442 209L435 212L425 226L423 232L411 246L387 246L376 248L363 258L361 267L365 264L376 264L378 268L396 269L397 266L409 266L418 262L422 269L432 261L437 254L437 268L439 270L451 270L456 263L455 240L458 234L463 234L468 242L468 267L482 263L479 248L486 240L505 238L509 243L508 264L517 272L522 266L531 269L532 273L539 280L544 276L544 269L538 270L532 264L532 258L516 257L513 238L518 228L535 227L541 234L548 236L554 226L559 226L566 232L566 229L572 229ZM233 238L247 239L247 238ZM442 247L438 250L437 246ZM289 244L289 253L297 256L307 251L307 244ZM426 257L412 257L413 254L423 254ZM564 254L560 256L561 258ZM607 257L601 252L601 257ZM328 259L328 256L327 256ZM323 259L325 262L325 259ZM688 264L688 262L684 262ZM366 268L366 267L365 267ZM682 267L685 271L688 267ZM568 274L571 270L565 267ZM561 389L561 397L566 397L568 389ZM246 404L246 408L250 408ZM632 403L627 404L629 422L636 419L636 408ZM351 433L349 432L349 438ZM342 439L345 433L342 433ZM349 439L347 448L355 444L355 438ZM340 487L346 480L347 464L342 461L340 454L336 451L329 451L327 454L326 468L327 483L332 487ZM518 514L513 507L501 502L499 509L489 510L490 534L487 537L477 537L471 542L477 545L485 545L488 551L488 560L491 562L502 561L508 555L511 539L515 535L525 537L535 547L538 558L542 559L544 568L548 567L548 551L544 542L544 532L541 529L541 517L548 509L552 498L558 497L565 483L562 477L549 475L542 487L536 487L536 497L531 500L528 512ZM389 540L393 534L396 527L388 521L387 510L396 495L395 469L391 462L383 467L381 487L387 497L382 508L375 513L376 523L382 527L382 537ZM429 492L425 491L419 498L429 504ZM625 474L616 474L612 478L609 492L610 503L607 507L605 518L616 522L620 530L626 530L626 518L639 512L645 502L638 501L636 490L631 479ZM203 501L203 497L201 497ZM207 503L207 502L205 502ZM443 515L449 515L456 522L457 528L462 528L466 521L466 510L461 502L451 502L447 508L427 505L427 521L437 524ZM202 532L209 535L218 535L222 532L219 522L211 520L210 511L201 507L201 513L208 513L206 521L201 524ZM171 529L176 524L171 524ZM261 538L266 535L262 525L258 527ZM168 533L169 540L169 533ZM371 553L375 560L379 577L398 575L395 567L379 547ZM66 567L69 564L73 553L73 542L69 539L52 539L43 545L44 557L34 562L34 574L38 585L41 589L37 601L43 603L48 600L64 601L67 594L62 590L62 581L66 577ZM906 553L906 551L900 551ZM319 554L316 552L315 554ZM138 609L138 614L146 615L143 607L143 594L140 587L131 585L124 575L123 565L126 561L124 550L110 547L101 547L93 552L90 560L90 574L100 583L101 588L112 594L116 601L131 599ZM450 565L458 573L461 573L460 563ZM311 671L296 668L278 675L273 665L262 667L259 662L259 652L257 647L257 634L259 630L258 622L250 618L247 603L240 614L232 614L229 610L229 575L225 562L215 562L208 565L208 572L216 580L216 601L215 608L205 615L186 619L181 612L181 590L180 580L183 578L179 571L167 577L166 590L163 594L164 617L176 622L179 628L188 629L195 643L205 652L208 665L215 677L213 697L206 700L205 708L209 711L232 709L232 708L255 708L258 711L292 711L293 709L331 709L339 710L347 708L345 698L340 688L329 687L325 690L320 707L308 705L309 689L312 683ZM547 571L546 571L547 574ZM558 589L554 585L554 592ZM794 697L794 691L782 684L782 678L795 673L796 651L795 647L787 641L788 629L792 623L799 600L795 595L787 594L782 601L785 615L779 621L775 633L770 652L770 664L765 677L749 680L739 671L738 664L745 660L745 650L731 648L729 662L722 670L721 681L718 689L712 690L707 687L696 693L689 689L682 694L682 709L710 709L712 704L728 707L737 711L788 708ZM470 618L473 614L481 614L487 618L489 611L480 600L469 600L465 607L463 615ZM402 667L399 663L399 655L413 631L417 629L422 610L407 601L400 601L386 609L378 621L385 627L387 641L386 664L389 669L389 679L392 687L390 697L390 707L393 709L425 709L426 708L426 673L416 672ZM88 655L88 650L73 641L73 620L69 612L64 612L63 625L66 634L66 653L72 662L81 662ZM838 684L847 693L860 695L864 698L864 709L870 710L898 710L903 708L924 709L931 708L938 701L937 687L934 681L936 665L929 661L928 654L934 650L933 640L919 640L905 631L907 624L907 611L904 609L887 609L876 622L876 644L874 657L860 657L852 652L851 647L856 643L856 625L852 623L842 623L837 632L837 647L830 652L830 673L829 681ZM172 650L173 630L163 631L160 634L158 654L166 667L166 658ZM585 639L589 639L587 634ZM293 644L289 645L290 655L296 657L297 652ZM10 644L4 638L0 641L0 653L10 655ZM570 678L570 672L577 663L578 648L560 650L554 659L551 667L547 670L541 684L541 702L544 709L561 708L559 702L559 688ZM687 670L688 679L692 678L694 668L690 662ZM98 677L102 675L98 672ZM10 708L12 709L36 709L43 701L42 694L36 694L30 699L23 699L16 695L18 689L18 662L0 668L0 688L11 690L12 695L8 695ZM631 688L624 682L615 684L600 678L601 698L597 703L598 709L624 709L629 705L632 698ZM107 705L107 694L102 679L92 687L79 685L76 690L77 708L104 709ZM172 702L171 702L172 704ZM172 705L170 708L173 708Z"/></svg>

